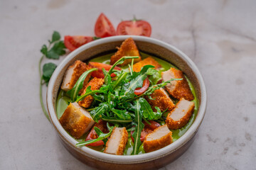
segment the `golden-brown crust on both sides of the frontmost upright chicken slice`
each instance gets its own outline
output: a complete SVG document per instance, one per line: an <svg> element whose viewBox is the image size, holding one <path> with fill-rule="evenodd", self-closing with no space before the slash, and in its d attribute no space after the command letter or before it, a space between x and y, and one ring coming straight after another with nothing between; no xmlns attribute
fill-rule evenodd
<svg viewBox="0 0 256 170"><path fill-rule="evenodd" d="M117 129L117 128L114 127L114 129L113 129L113 131L112 131L112 134L114 134L114 132L115 132L116 129ZM120 139L120 142L119 142L119 145L118 145L118 148L117 148L117 152L115 153L115 154L117 154L117 155L122 155L122 154L124 154L124 149L125 149L125 147L126 147L126 145L127 145L127 140L128 140L128 132L127 132L126 128L122 128L122 134L121 134L121 135L122 135L122 137L121 137L121 139ZM104 153L110 154L110 153L107 152L108 147L109 147L109 145L110 145L110 140L116 140L116 139L112 139L112 135L110 136L110 139L107 141L107 144L106 144L106 148L105 148L105 150L104 150Z"/></svg>

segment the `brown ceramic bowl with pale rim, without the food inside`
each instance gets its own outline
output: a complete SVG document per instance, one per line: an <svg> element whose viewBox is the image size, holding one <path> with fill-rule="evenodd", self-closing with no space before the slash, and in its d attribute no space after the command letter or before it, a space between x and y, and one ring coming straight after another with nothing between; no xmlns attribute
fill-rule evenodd
<svg viewBox="0 0 256 170"><path fill-rule="evenodd" d="M70 64L73 64L75 60L86 61L95 56L113 52L116 50L116 47L119 47L121 43L129 37L134 39L140 51L159 57L167 62L171 62L171 64L176 65L176 67L181 69L188 79L191 80L196 89L196 95L198 96L199 101L196 120L193 122L193 125L191 125L191 128L189 128L188 131L174 143L146 154L120 156L97 152L88 147L75 147L77 141L68 135L68 132L66 132L60 125L55 108L57 94L65 70ZM55 69L48 84L47 106L50 120L55 130L58 132L61 142L73 156L80 159L80 161L85 164L96 169L158 169L180 157L192 144L206 113L206 87L196 65L188 58L188 56L176 47L154 38L132 35L113 36L82 45L82 47L79 47L65 57L65 60L63 60L63 62L61 62Z"/></svg>

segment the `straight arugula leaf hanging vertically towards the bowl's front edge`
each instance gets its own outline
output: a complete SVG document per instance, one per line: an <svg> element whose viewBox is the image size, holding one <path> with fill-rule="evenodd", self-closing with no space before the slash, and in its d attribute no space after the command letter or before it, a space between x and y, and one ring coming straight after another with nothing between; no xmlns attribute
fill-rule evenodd
<svg viewBox="0 0 256 170"><path fill-rule="evenodd" d="M142 112L141 112L141 106L139 104L139 99L134 102L136 111L135 111L135 119L134 119L134 125L135 130L132 134L132 137L134 138L134 149L132 151L132 154L138 154L139 146L142 144L140 140L140 136L142 133L142 129L144 128L144 124L142 123Z"/></svg>

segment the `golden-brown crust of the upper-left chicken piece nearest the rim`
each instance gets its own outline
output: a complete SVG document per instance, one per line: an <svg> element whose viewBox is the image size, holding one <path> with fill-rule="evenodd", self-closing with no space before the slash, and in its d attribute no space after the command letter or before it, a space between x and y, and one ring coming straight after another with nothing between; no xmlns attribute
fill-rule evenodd
<svg viewBox="0 0 256 170"><path fill-rule="evenodd" d="M75 86L76 81L78 81L78 79L82 75L82 73L86 72L88 69L91 69L90 66L88 66L84 62L81 62L80 60L76 60L74 64L72 64L72 65L70 65L70 67L68 67L68 69L72 69L73 67L74 67L74 72L72 74L72 78L70 79L68 84L65 84L65 86L69 86L69 89L72 89L73 86ZM91 74L89 74L85 78L83 86L86 86L86 84L88 83L88 81L90 79L90 75Z"/></svg>

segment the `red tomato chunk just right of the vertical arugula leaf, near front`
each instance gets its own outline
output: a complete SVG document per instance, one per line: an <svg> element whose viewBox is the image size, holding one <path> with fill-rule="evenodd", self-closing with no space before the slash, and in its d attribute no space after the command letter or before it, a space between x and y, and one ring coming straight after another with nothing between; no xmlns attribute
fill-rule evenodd
<svg viewBox="0 0 256 170"><path fill-rule="evenodd" d="M144 122L144 121L143 121L143 123L144 123L145 126L142 130L142 133L141 133L141 137L140 137L141 142L143 142L145 140L146 135L149 135L149 133L153 132L154 129L161 126L159 123L157 123L153 120L149 120L150 125L148 123ZM133 133L134 133L134 131L131 132L131 137L132 137ZM132 141L134 142L133 137L132 137Z"/></svg>

